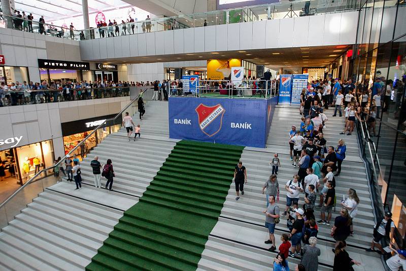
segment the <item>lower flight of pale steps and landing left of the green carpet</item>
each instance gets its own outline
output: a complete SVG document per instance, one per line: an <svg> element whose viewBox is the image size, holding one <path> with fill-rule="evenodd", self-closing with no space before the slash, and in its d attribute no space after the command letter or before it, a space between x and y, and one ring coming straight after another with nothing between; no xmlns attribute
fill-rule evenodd
<svg viewBox="0 0 406 271"><path fill-rule="evenodd" d="M138 200L61 182L0 232L0 270L83 270Z"/></svg>

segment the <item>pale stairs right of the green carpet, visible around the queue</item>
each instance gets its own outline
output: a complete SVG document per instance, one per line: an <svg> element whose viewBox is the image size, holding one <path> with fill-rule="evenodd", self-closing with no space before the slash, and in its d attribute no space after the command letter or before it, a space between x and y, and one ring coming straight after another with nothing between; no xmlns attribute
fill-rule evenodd
<svg viewBox="0 0 406 271"><path fill-rule="evenodd" d="M372 238L372 232L374 227L374 215L373 209L370 204L369 190L367 180L365 179L365 167L360 159L356 133L352 136L340 135L340 132L344 128L344 117L332 117L332 110L328 110L326 115L329 120L327 122L327 128L324 131L324 136L327 140L327 145L336 146L337 141L343 138L347 145L346 159L343 162L342 173L339 177L336 177L336 195L337 201L346 194L349 188L356 189L358 196L360 197L360 204L358 206L358 215L354 219L354 231L355 235L350 236L347 239L349 244L347 250L350 256L354 259L361 261L361 266L354 267L356 270L366 270L368 268L376 268L381 266L379 255L376 253L366 253L364 248L367 248ZM266 197L261 194L262 186L272 173L272 168L268 163L273 158L274 153L279 153L281 159L281 167L278 173L278 182L280 184L280 201L278 205L281 210L284 210L286 205L286 190L285 184L292 179L294 174L297 174L298 168L291 165L289 157L289 144L288 144L288 132L291 125L300 124L300 115L298 109L294 107L282 107L276 108L272 126L269 132L266 149L259 148L245 148L242 154L241 160L243 165L247 168L248 183L245 185L245 194L236 201L235 200L235 188L234 184L230 186L229 194L224 203L224 207L221 212L219 222L212 231L213 236L217 236L221 239L221 242L226 242L229 239L244 244L254 250L255 254L261 255L260 257L252 258L250 263L267 262L268 269L270 263L273 262L273 257L276 253L270 253L267 251L269 245L265 245L263 241L268 239L267 231L264 228L264 215L262 211L266 208ZM341 137L343 136L343 137ZM319 199L317 199L317 203ZM303 205L303 195L299 200L299 206ZM331 249L334 246L335 241L330 236L330 229L334 223L334 218L339 215L340 204L336 205L333 212L332 219L330 221L331 226L319 226L318 234L318 247L321 250L321 256L319 257L319 270L331 270L333 264L334 254ZM315 210L316 219L320 219L320 211ZM286 217L281 217L281 222L276 227L276 245L280 245L280 235L282 233L288 233L286 226ZM231 225L231 226L230 226ZM220 242L220 240L217 240ZM210 246L206 247L204 251L203 259L199 267L202 270L215 270L217 268L227 268L235 258L227 257L229 252L226 246L220 246L223 250L219 252L219 249L213 249ZM207 258L211 259L212 265L207 262ZM297 264L300 262L298 258L290 258L289 262ZM220 265L214 265L216 262ZM289 266L294 268L294 264ZM263 266L263 265L262 265ZM247 267L248 268L248 267ZM259 269L257 266L251 266L252 270Z"/></svg>

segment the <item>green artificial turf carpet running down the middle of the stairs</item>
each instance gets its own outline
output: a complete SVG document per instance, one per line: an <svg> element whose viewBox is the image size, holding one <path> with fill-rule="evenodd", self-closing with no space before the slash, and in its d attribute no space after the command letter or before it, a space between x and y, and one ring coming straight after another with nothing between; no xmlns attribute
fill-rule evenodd
<svg viewBox="0 0 406 271"><path fill-rule="evenodd" d="M243 149L178 142L86 270L195 270Z"/></svg>

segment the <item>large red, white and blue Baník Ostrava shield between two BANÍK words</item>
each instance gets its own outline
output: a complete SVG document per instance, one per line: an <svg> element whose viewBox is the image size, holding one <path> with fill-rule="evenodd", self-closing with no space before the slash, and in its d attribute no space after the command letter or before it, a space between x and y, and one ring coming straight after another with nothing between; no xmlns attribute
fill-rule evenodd
<svg viewBox="0 0 406 271"><path fill-rule="evenodd" d="M212 107L200 104L195 109L199 127L208 137L213 137L221 130L225 109L220 105Z"/></svg>

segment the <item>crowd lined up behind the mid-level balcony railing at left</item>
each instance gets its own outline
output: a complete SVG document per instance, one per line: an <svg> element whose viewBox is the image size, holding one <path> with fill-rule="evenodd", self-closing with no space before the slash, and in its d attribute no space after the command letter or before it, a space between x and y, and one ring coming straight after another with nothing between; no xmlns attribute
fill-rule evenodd
<svg viewBox="0 0 406 271"><path fill-rule="evenodd" d="M46 80L41 83L26 81L12 82L10 85L0 84L0 107L56 103L58 101L96 99L107 97L128 96L130 86L135 82L112 81L59 81Z"/></svg>

